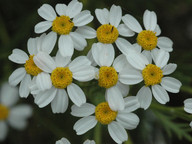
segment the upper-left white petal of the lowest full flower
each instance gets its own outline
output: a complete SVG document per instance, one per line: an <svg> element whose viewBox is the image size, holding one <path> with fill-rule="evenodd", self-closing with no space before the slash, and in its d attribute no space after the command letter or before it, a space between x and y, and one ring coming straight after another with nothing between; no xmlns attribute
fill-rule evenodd
<svg viewBox="0 0 192 144"><path fill-rule="evenodd" d="M71 115L76 117L86 117L92 115L94 112L95 112L95 106L89 103L85 103L80 107L76 105L73 105L71 107Z"/></svg>

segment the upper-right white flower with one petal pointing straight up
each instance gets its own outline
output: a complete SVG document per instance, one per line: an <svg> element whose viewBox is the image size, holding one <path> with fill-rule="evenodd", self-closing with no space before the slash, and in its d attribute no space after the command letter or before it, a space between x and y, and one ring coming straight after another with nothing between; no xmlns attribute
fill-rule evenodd
<svg viewBox="0 0 192 144"><path fill-rule="evenodd" d="M151 50L157 47L167 52L173 50L173 42L168 37L158 37L161 34L161 30L157 24L157 16L155 12L145 10L143 15L143 23L145 30L142 29L139 22L131 15L126 14L122 17L122 21L132 31L138 33L137 44L143 48L146 53L150 53Z"/></svg>

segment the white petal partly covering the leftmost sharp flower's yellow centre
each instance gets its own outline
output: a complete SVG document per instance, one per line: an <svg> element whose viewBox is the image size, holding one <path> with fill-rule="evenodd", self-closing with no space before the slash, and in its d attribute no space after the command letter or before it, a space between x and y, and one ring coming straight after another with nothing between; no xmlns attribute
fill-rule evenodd
<svg viewBox="0 0 192 144"><path fill-rule="evenodd" d="M33 57L33 60L34 63L44 72L51 73L56 68L53 58L45 52L39 52Z"/></svg>

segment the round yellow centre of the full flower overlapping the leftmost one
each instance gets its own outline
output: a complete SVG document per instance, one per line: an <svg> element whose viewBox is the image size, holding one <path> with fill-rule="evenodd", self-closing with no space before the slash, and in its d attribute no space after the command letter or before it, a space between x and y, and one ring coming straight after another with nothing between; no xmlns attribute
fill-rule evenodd
<svg viewBox="0 0 192 144"><path fill-rule="evenodd" d="M56 88L66 88L73 81L73 74L68 67L57 67L51 73L52 84Z"/></svg>

